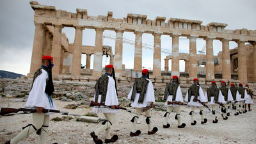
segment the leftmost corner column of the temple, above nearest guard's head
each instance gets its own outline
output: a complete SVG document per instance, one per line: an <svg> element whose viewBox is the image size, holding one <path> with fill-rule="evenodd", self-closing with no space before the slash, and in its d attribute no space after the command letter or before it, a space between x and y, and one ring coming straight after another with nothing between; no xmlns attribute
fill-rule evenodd
<svg viewBox="0 0 256 144"><path fill-rule="evenodd" d="M34 74L42 65L42 56L44 49L44 24L35 23L35 36L31 56L30 74Z"/></svg>

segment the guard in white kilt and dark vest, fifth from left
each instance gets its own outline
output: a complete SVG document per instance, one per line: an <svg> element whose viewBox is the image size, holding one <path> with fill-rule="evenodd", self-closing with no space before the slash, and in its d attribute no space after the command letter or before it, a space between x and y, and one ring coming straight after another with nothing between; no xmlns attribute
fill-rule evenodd
<svg viewBox="0 0 256 144"><path fill-rule="evenodd" d="M203 107L206 100L204 92L200 84L198 83L198 79L193 79L193 84L188 89L185 101L188 102L188 106L191 106L191 111L189 113L189 115L191 116L191 125L196 124L196 120L194 120L195 107L198 107L200 109L201 124L205 124L207 122L207 118L204 118Z"/></svg>

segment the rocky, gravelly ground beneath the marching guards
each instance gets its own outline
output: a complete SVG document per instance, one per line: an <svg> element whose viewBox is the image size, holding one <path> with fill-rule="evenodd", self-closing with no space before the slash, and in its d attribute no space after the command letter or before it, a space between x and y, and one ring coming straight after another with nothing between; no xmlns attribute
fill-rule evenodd
<svg viewBox="0 0 256 144"><path fill-rule="evenodd" d="M86 115L92 112L92 108L88 108L88 101L93 99L95 83L86 82L60 82L54 81L54 102L61 111L77 115ZM129 100L127 94L131 90L132 84L118 83L118 100L122 106L129 108ZM31 80L25 79L1 79L0 80L0 106L2 108L21 108L26 104ZM255 143L256 141L256 106L253 104L252 111L234 116L234 110L228 120L221 118L220 108L218 108L218 124L212 124L212 114L208 109L204 109L205 118L209 120L207 124L200 124L199 110L195 111L196 125L190 125L190 108L182 106L181 118L182 122L187 126L184 129L177 128L177 122L174 120L175 113L170 115L169 129L163 129L164 111L163 96L164 88L155 86L156 108L152 109L152 123L158 127L159 131L151 136L147 134L147 124L145 115L141 115L139 119L138 129L141 135L138 137L130 137L130 127L132 114L120 111L116 116L118 118L116 124L111 129L112 134L117 134L119 139L116 143ZM186 93L183 88L182 93ZM184 94L185 95L185 94ZM129 108L132 109L132 108ZM134 110L134 109L132 109ZM99 117L104 117L98 114ZM93 143L90 132L100 126L95 123L79 122L77 116L63 117L60 113L51 115L49 127L49 136L47 143ZM60 120L60 121L59 121ZM10 140L21 131L22 127L32 124L32 115L12 115L0 117L0 143ZM104 141L104 132L99 135ZM31 134L28 138L20 141L20 143L39 143L38 135Z"/></svg>

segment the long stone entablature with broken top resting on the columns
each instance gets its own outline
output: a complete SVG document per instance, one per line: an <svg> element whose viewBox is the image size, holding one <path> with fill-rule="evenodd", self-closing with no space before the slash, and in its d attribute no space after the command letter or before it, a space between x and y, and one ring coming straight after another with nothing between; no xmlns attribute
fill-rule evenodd
<svg viewBox="0 0 256 144"><path fill-rule="evenodd" d="M227 24L211 22L203 26L199 20L169 19L156 17L155 20L147 19L147 15L129 13L124 19L113 18L113 13L108 12L107 16L98 17L87 15L87 10L77 9L77 13L65 10L56 10L55 6L42 6L36 1L31 2L31 7L35 10L35 22L49 25L63 26L83 26L84 28L103 28L115 30L116 28L125 31L144 31L143 33L162 33L164 35L180 34L180 36L195 35L199 38L208 36L221 40L228 38L231 40L256 41L256 31L247 29L224 30ZM179 29L177 29L179 28ZM238 34L238 35L237 35Z"/></svg>

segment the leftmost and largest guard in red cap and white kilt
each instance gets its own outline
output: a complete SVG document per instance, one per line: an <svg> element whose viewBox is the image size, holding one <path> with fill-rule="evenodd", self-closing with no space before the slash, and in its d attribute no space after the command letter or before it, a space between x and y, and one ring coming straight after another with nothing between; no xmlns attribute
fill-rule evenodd
<svg viewBox="0 0 256 144"><path fill-rule="evenodd" d="M51 68L53 67L53 58L51 56L42 57L42 67L36 70L28 100L27 108L36 108L36 113L32 114L33 124L22 127L22 131L9 143L18 143L33 132L40 136L40 143L46 143L49 120L52 113L42 113L43 109L57 109L52 101L51 95L54 92L52 84Z"/></svg>

